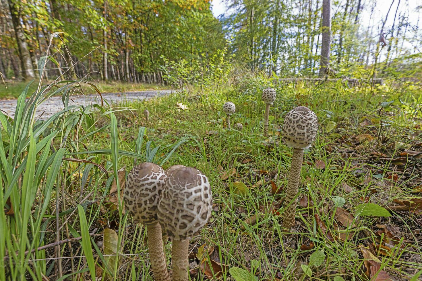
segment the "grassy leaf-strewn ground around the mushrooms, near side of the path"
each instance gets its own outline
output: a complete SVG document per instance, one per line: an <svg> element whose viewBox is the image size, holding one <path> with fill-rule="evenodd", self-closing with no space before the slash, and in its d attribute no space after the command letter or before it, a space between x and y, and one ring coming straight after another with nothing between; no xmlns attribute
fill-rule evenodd
<svg viewBox="0 0 422 281"><path fill-rule="evenodd" d="M262 135L265 107L260 101L260 94L262 88L268 86L277 89L277 99L270 111L270 137L265 137ZM226 101L236 104L236 113L230 120L232 124L243 123L243 131L225 128L222 104ZM178 103L187 109L181 109ZM54 151L59 153L62 147L64 157L101 165L108 171L109 178L89 162L62 161L57 177L49 176L56 170L53 166L46 166L48 179L40 174L38 193L34 199L46 205L45 214L41 216L45 218L43 236L32 222L34 219L37 221L39 216L30 216L29 226L35 232L22 238L16 227L11 227L18 223L15 222L16 215L2 214L0 237L8 241L5 247L9 253L22 249L20 247L26 250L36 248L40 245L39 241L45 245L79 236L83 237L82 241L85 237L85 241L62 244L60 254L54 252L54 248L24 256L21 251L13 260L24 258L31 260L35 266L19 268L15 263L9 263L3 276L11 272L8 277L11 279L10 276L26 272L28 278L42 275L58 278L57 274L66 276L81 271L89 275L89 271L93 270L92 257L84 254L89 251L89 244L92 244L97 269L104 268L105 260L103 251L96 244L101 236L93 236L90 243L87 243L86 237L96 228L96 233L101 233L103 228L111 228L117 231L122 242L117 244L121 245L119 267L114 273L118 271L117 278L153 280L146 255L145 227L133 224L122 202L116 201L119 193L109 195L113 178L118 177L117 170L125 167L126 173L130 171L136 156L140 161L149 158L155 163L162 163L163 168L176 163L197 167L211 182L214 199L212 217L190 243L192 255L189 262L205 262L197 274L195 270L198 271L198 268L193 269L192 276L197 276L192 277L193 280L206 279L204 271L212 277L212 270L203 270L209 268L209 264L214 269L222 268L218 275L222 280L234 280L229 268L237 267L249 272L253 264L257 280L308 280L309 277L303 273L306 266L311 269L314 280L341 280L339 277L369 280L365 275L365 265L368 265L365 258L368 258L369 252L373 255L370 256L372 259L378 259L373 265L374 273L384 270L396 279L411 278L420 270L422 217L417 210L395 210L388 206L392 206L394 200L405 202L421 198L421 190L418 192L418 186L422 184L421 160L419 156L403 156L406 151L421 150L421 104L420 91L413 86L348 88L341 83L293 85L249 78L218 89L193 87L189 93L172 94L145 103L119 104L113 113L108 110L103 114L82 114L82 108L75 115L67 112L66 118L85 118L75 123L58 119L60 123L55 121L49 126L51 131L57 131L52 142ZM281 215L292 149L284 145L280 131L286 113L298 105L314 110L320 128L313 147L305 151L296 225L288 231L281 225ZM145 108L151 112L149 122L141 118ZM10 150L8 144L9 141L14 143L11 141L13 134L6 134L4 129L2 134L3 146L5 150ZM30 134L22 135L22 139L28 138ZM171 153L178 142L180 146ZM33 157L30 142L22 143L27 147L24 151ZM37 155L38 161L51 163L43 157L57 159L53 157L57 153L50 151L49 144L44 144L45 148ZM158 146L154 153L154 147ZM45 152L47 149L48 152ZM43 156L43 153L46 155ZM170 157L163 163L166 155ZM10 158L10 154L7 157ZM6 183L12 182L11 178L5 179L5 169L13 174L11 167L24 165L25 157L29 156L23 153L15 157L16 163L11 161L7 167L2 161L0 177L3 179L0 182L3 181L3 188L8 186ZM52 163L60 163L55 161ZM322 169L321 163L325 164L325 168ZM38 167L39 162L36 165ZM233 171L233 168L235 173L222 177L223 172ZM264 184L260 184L262 180ZM271 181L281 188L279 194L272 193ZM54 187L49 187L53 183ZM11 196L22 196L17 184L11 186ZM120 187L116 186L117 190ZM0 201L5 205L4 209L10 211L10 202L6 202L4 192ZM46 201L46 196L51 199ZM335 202L341 201L338 197L344 199L343 208L347 210L344 214L349 215L350 212L348 217L354 219L350 227L342 225L344 219L338 216L342 211L335 207ZM391 216L356 216L356 206L364 201L387 208ZM18 201L16 204L19 205ZM35 205L32 209L37 211ZM3 208L3 205L0 207ZM87 227L80 225L81 208L85 210ZM22 225L22 222L19 223ZM36 246L32 245L33 237L36 237ZM28 248L29 244L32 248ZM380 248L380 244L384 248ZM209 251L203 251L204 245ZM169 259L170 246L168 242ZM198 251L205 252L202 259L198 259ZM311 255L317 251L324 252L324 258L311 264ZM62 259L44 260L58 255ZM4 249L0 247L2 260L3 256ZM71 256L87 256L87 259L71 259ZM58 260L61 260L61 270L58 269ZM259 266L252 260L258 261ZM105 273L99 270L97 276L99 274Z"/></svg>

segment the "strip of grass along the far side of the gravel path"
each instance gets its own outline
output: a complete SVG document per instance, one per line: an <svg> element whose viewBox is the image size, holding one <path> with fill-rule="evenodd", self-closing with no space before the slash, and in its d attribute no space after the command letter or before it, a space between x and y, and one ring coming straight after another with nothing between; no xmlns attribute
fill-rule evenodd
<svg viewBox="0 0 422 281"><path fill-rule="evenodd" d="M116 81L108 81L108 82L93 82L95 86L102 92L102 93L117 93L117 92L130 92L130 91L146 91L146 90L162 90L168 89L168 86L163 86L160 84L145 84L145 83L126 83L126 82L116 82ZM45 84L48 84L46 82ZM27 82L20 81L11 81L8 80L4 84L0 84L0 99L16 99L25 89L27 86ZM95 94L95 89L81 84L83 87L83 91L86 94ZM38 87L38 83L32 83L28 95L32 94Z"/></svg>

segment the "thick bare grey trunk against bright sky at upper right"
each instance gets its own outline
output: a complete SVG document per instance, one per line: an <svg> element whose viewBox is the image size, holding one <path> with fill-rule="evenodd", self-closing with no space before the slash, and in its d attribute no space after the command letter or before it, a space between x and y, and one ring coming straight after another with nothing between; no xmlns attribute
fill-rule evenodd
<svg viewBox="0 0 422 281"><path fill-rule="evenodd" d="M321 65L319 76L328 74L330 67L330 43L331 43L331 0L322 0L322 46Z"/></svg>

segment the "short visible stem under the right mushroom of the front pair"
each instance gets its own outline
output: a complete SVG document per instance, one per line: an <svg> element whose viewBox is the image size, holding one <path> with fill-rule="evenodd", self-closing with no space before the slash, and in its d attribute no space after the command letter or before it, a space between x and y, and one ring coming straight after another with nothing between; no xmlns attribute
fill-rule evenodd
<svg viewBox="0 0 422 281"><path fill-rule="evenodd" d="M173 240L171 260L173 263L173 281L188 281L189 239Z"/></svg>

